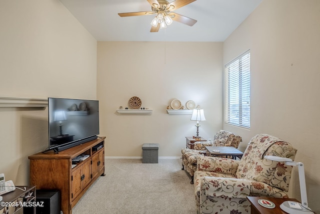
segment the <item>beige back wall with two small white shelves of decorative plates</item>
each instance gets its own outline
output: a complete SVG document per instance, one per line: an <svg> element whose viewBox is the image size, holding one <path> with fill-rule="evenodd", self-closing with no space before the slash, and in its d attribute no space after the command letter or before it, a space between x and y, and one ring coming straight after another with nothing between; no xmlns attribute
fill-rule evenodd
<svg viewBox="0 0 320 214"><path fill-rule="evenodd" d="M213 138L222 122L222 43L98 42L97 98L105 156L141 157L143 143L158 155L178 157L185 136L195 134L189 114L167 114L171 100L193 100L204 109L199 133ZM118 114L132 96L151 115Z"/></svg>

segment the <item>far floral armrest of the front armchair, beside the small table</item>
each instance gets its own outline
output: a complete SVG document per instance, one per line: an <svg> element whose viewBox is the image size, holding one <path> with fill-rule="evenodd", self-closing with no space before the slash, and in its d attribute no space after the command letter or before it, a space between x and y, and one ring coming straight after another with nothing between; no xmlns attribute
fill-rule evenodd
<svg viewBox="0 0 320 214"><path fill-rule="evenodd" d="M196 170L210 171L235 176L239 160L222 157L198 156Z"/></svg>

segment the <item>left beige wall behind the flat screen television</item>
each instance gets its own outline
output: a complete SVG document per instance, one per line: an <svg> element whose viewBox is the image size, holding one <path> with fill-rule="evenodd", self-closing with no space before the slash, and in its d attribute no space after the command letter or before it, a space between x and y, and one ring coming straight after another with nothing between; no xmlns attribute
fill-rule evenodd
<svg viewBox="0 0 320 214"><path fill-rule="evenodd" d="M0 20L0 97L96 98L96 40L59 1L1 0ZM0 173L28 184L47 108L0 108L0 121Z"/></svg>

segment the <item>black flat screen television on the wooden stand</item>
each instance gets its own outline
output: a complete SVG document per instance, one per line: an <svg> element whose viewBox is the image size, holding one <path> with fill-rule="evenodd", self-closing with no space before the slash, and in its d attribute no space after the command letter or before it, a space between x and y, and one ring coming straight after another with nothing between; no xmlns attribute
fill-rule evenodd
<svg viewBox="0 0 320 214"><path fill-rule="evenodd" d="M96 139L99 101L48 98L49 148L55 152Z"/></svg>

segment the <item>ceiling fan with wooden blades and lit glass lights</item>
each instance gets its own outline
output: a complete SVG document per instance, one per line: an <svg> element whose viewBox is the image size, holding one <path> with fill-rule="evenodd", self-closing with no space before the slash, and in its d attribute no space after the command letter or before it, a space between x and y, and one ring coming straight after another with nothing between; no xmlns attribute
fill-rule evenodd
<svg viewBox="0 0 320 214"><path fill-rule="evenodd" d="M151 11L119 13L120 17L144 16L155 14L156 17L151 22L150 32L158 32L159 29L166 28L172 21L176 21L188 26L193 26L196 20L173 13L176 9L186 6L196 0L174 0L171 3L162 0L147 0L151 5Z"/></svg>

